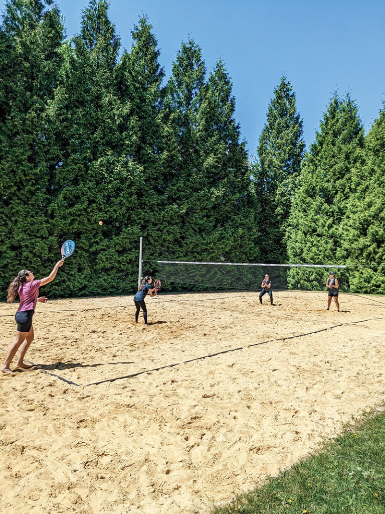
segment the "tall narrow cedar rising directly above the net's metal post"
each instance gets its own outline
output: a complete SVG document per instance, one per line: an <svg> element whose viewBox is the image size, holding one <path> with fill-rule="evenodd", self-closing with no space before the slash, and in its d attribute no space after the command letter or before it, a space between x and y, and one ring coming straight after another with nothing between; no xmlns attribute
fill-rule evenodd
<svg viewBox="0 0 385 514"><path fill-rule="evenodd" d="M160 256L165 188L161 158L164 70L159 64L160 50L151 29L147 17L142 16L131 31L131 51L123 53L117 67L118 86L126 113L122 137L127 155L140 170L137 198L141 210L136 225L145 241L144 256L147 259ZM152 271L146 268L144 272Z"/></svg>

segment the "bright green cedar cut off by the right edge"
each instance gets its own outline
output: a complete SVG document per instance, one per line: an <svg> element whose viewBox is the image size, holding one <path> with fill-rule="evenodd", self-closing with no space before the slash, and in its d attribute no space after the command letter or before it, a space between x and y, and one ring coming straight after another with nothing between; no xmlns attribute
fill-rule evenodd
<svg viewBox="0 0 385 514"><path fill-rule="evenodd" d="M385 293L385 110L365 137L364 166L353 170L353 191L340 238L353 291Z"/></svg>

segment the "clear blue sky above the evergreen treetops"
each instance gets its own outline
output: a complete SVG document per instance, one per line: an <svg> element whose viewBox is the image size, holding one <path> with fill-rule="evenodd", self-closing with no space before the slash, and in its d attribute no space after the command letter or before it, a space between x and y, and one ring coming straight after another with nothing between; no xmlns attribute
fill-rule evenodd
<svg viewBox="0 0 385 514"><path fill-rule="evenodd" d="M57 4L70 37L88 0ZM365 130L385 100L385 0L111 0L110 20L128 50L142 13L153 26L166 75L188 36L201 46L208 72L223 59L251 154L283 74L296 93L307 146L335 90L350 91Z"/></svg>

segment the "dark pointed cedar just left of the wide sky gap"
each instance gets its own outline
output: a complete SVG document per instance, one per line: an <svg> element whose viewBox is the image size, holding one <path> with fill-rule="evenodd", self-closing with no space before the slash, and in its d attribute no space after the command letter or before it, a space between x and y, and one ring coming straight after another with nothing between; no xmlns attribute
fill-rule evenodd
<svg viewBox="0 0 385 514"><path fill-rule="evenodd" d="M245 142L235 121L235 97L224 63L210 74L198 112L202 216L200 238L206 257L246 262L258 258L256 219Z"/></svg>

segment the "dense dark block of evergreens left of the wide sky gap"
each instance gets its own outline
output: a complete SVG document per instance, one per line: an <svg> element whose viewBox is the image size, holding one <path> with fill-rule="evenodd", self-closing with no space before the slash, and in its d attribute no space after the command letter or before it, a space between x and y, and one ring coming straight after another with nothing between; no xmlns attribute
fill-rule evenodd
<svg viewBox="0 0 385 514"><path fill-rule="evenodd" d="M121 52L105 0L63 41L51 1L9 0L0 29L2 288L45 276L76 243L50 295L133 291L147 258L252 260L253 197L232 84L183 43L166 86L145 16ZM99 225L103 220L104 224ZM148 270L144 270L148 271Z"/></svg>

